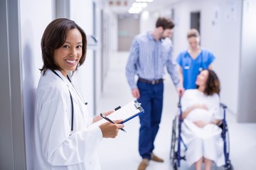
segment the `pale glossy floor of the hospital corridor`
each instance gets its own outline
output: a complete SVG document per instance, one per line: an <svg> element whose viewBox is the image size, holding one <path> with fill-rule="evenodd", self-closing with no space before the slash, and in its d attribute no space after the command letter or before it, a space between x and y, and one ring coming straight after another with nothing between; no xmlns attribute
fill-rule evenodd
<svg viewBox="0 0 256 170"><path fill-rule="evenodd" d="M127 52L114 53L110 62L110 72L104 86L99 111L110 111L117 106L132 101L131 91L124 74ZM164 163L150 162L147 170L169 170L171 145L171 122L176 113L178 95L168 74L164 81L164 110L161 125L156 136L154 152L164 158ZM228 113L230 131L230 159L235 170L256 169L256 123L238 124L235 116ZM98 153L102 170L136 170L141 158L138 153L139 119L134 118L125 124L127 133L120 131L115 139L104 139ZM182 169L188 169L182 162ZM193 169L190 168L190 169Z"/></svg>

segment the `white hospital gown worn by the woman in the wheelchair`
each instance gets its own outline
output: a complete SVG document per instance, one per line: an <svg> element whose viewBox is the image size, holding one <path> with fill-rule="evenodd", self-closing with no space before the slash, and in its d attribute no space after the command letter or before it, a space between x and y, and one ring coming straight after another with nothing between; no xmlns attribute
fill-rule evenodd
<svg viewBox="0 0 256 170"><path fill-rule="evenodd" d="M223 112L220 111L220 98L218 94L206 96L197 89L188 89L181 98L182 111L186 111L193 104L205 104L208 110L202 108L193 109L183 120L181 136L188 147L186 162L188 166L191 166L201 157L206 157L213 160L217 166L222 166L225 164L225 158L221 128L213 124L199 128L193 123L196 120L222 120Z"/></svg>

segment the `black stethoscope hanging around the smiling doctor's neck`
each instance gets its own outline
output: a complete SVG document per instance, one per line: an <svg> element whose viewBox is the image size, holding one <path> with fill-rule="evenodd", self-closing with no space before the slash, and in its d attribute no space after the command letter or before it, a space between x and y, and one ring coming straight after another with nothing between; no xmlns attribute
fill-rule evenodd
<svg viewBox="0 0 256 170"><path fill-rule="evenodd" d="M51 69L51 71L57 75L58 77L60 77L60 75L58 73L56 73L53 69ZM68 77L68 75L67 75ZM63 78L60 77L60 79L63 80ZM64 81L64 80L63 80ZM70 78L68 77L68 81L70 81L70 84L72 84L73 88L75 89L75 92L78 94L80 100L82 101L82 103L85 103L85 105L87 105L87 102L84 101L84 99L82 98L82 96L78 93L78 90L75 88L75 86L73 85L72 81L70 80ZM65 81L64 81L65 82ZM68 86L68 85L67 85ZM71 95L70 89L68 88L68 92L70 94L70 101L71 101L71 130L70 130L70 135L72 135L73 133L73 127L74 127L74 103L73 103L73 97Z"/></svg>

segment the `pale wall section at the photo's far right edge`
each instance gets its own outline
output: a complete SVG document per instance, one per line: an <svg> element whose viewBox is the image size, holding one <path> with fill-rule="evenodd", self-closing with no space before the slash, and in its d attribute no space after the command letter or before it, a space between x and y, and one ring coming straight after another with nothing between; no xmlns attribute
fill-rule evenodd
<svg viewBox="0 0 256 170"><path fill-rule="evenodd" d="M256 1L244 0L242 12L242 45L238 121L256 123Z"/></svg>

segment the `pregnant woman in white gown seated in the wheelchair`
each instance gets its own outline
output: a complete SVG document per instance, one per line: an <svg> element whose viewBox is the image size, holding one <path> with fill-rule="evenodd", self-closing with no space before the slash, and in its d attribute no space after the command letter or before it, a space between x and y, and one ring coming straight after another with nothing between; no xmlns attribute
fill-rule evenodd
<svg viewBox="0 0 256 170"><path fill-rule="evenodd" d="M181 98L181 136L187 145L186 162L196 170L211 169L225 164L223 139L218 125L223 119L220 112L220 81L212 70L204 69L196 79L196 89L188 89Z"/></svg>

